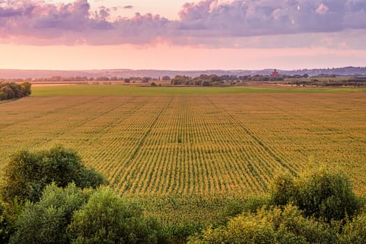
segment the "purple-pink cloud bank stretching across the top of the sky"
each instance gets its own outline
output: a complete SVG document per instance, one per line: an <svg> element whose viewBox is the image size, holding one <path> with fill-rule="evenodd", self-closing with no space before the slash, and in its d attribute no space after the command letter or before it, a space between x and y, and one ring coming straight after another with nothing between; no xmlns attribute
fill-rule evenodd
<svg viewBox="0 0 366 244"><path fill-rule="evenodd" d="M323 3L204 0L185 3L176 21L139 13L110 20L111 9L101 6L91 11L87 0L59 4L36 0L0 1L0 38L2 42L31 45L141 45L168 40L176 45L220 43L226 47L235 42L237 47L245 47L245 43L236 39L366 29L363 0Z"/></svg>

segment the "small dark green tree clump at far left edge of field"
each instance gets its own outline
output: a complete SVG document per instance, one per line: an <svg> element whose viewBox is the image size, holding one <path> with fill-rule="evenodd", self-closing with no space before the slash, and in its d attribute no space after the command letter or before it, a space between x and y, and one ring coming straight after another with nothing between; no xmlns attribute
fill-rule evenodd
<svg viewBox="0 0 366 244"><path fill-rule="evenodd" d="M0 82L0 100L8 100L14 98L23 98L31 95L30 82Z"/></svg>

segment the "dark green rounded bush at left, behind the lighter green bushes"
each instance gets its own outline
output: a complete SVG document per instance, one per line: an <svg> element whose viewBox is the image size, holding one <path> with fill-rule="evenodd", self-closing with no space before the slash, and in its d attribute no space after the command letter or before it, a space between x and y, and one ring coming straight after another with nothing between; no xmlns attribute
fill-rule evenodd
<svg viewBox="0 0 366 244"><path fill-rule="evenodd" d="M54 182L60 187L75 182L78 187L96 188L105 184L105 178L86 169L75 151L56 145L48 150L15 152L4 168L1 197L6 202L38 201L43 189Z"/></svg>

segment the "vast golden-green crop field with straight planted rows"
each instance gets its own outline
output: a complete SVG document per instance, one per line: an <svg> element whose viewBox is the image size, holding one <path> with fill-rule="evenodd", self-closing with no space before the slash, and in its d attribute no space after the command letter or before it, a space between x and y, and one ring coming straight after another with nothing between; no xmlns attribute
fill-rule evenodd
<svg viewBox="0 0 366 244"><path fill-rule="evenodd" d="M35 87L0 104L0 167L20 146L64 144L171 222L214 219L278 172L319 165L366 195L363 89L235 89Z"/></svg>

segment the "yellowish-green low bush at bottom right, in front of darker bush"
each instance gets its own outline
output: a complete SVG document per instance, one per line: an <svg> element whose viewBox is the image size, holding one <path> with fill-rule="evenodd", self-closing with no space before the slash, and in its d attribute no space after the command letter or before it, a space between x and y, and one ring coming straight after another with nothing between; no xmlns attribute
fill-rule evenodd
<svg viewBox="0 0 366 244"><path fill-rule="evenodd" d="M296 206L287 205L243 213L192 236L189 243L337 243L336 234L337 228L304 218Z"/></svg>

